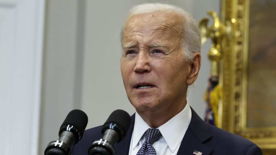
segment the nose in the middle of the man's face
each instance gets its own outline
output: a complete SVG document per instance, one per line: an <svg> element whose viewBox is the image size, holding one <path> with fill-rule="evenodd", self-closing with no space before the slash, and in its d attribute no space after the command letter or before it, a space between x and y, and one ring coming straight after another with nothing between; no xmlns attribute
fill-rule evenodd
<svg viewBox="0 0 276 155"><path fill-rule="evenodd" d="M136 73L149 73L151 72L151 67L149 64L149 55L146 52L140 52L136 58L134 71Z"/></svg>

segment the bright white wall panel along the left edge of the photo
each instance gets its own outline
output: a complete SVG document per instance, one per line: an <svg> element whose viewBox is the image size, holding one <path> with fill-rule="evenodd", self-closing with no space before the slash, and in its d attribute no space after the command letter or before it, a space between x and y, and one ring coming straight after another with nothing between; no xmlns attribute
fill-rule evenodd
<svg viewBox="0 0 276 155"><path fill-rule="evenodd" d="M1 155L37 155L44 0L0 0Z"/></svg>

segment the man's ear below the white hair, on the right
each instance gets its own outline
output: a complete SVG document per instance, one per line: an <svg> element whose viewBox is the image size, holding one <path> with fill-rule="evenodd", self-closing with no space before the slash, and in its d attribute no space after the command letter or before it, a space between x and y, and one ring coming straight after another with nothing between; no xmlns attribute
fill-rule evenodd
<svg viewBox="0 0 276 155"><path fill-rule="evenodd" d="M190 63L190 73L187 76L187 85L191 85L194 83L194 81L197 79L200 65L201 65L201 55L199 52L193 53L193 60Z"/></svg>

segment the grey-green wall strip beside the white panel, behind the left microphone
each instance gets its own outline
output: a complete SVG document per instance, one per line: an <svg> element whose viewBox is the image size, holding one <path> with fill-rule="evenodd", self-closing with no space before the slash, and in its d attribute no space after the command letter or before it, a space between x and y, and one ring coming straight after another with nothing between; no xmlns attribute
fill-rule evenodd
<svg viewBox="0 0 276 155"><path fill-rule="evenodd" d="M80 108L84 6L85 1L46 1L39 154L58 139L67 114Z"/></svg>

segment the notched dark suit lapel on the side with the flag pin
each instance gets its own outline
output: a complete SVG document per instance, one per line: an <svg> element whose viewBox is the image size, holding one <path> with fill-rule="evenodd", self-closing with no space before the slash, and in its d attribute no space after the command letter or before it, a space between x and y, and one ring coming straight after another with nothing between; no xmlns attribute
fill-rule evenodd
<svg viewBox="0 0 276 155"><path fill-rule="evenodd" d="M182 139L177 155L190 155L195 150L202 153L202 155L209 155L212 148L202 144L212 137L205 122L192 110L192 118L189 127Z"/></svg>

